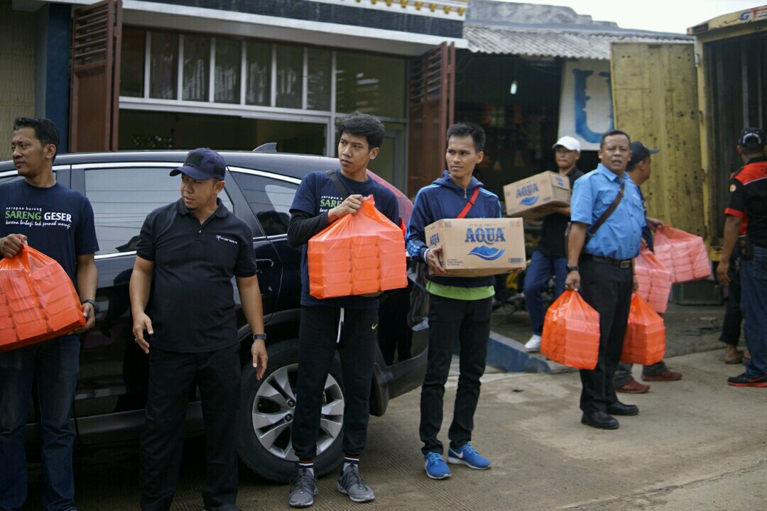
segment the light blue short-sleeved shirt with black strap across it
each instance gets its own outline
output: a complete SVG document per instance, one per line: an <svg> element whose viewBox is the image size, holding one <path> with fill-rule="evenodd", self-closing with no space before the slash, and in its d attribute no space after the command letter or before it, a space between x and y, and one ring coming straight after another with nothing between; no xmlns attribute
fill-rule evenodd
<svg viewBox="0 0 767 511"><path fill-rule="evenodd" d="M639 255L642 228L646 224L644 205L639 187L627 178L626 173L621 179L600 163L594 172L588 172L575 182L570 219L583 222L588 227L610 207L621 182L626 182L621 204L586 244L587 254L617 260L633 259Z"/></svg>

